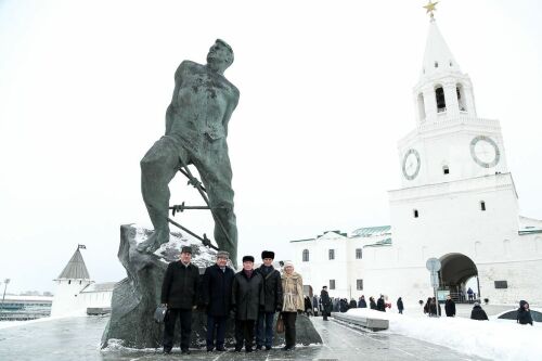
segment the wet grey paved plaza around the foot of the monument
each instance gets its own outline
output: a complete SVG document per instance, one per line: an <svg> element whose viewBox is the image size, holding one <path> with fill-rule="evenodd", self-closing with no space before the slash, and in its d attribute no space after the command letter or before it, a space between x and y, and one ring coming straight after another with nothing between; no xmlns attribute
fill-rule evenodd
<svg viewBox="0 0 542 361"><path fill-rule="evenodd" d="M0 330L0 360L482 360L404 336L357 331L334 321L324 322L320 318L311 320L322 335L324 345L298 347L293 352L281 349L251 353L192 350L190 356L181 356L180 350L175 348L171 354L164 356L154 349L111 347L100 350L99 344L107 318L59 319Z"/></svg>

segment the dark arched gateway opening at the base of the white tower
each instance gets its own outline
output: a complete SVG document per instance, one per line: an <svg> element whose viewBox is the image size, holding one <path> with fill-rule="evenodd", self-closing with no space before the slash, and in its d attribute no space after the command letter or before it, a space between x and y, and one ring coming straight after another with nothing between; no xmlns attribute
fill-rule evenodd
<svg viewBox="0 0 542 361"><path fill-rule="evenodd" d="M457 301L468 300L466 295L466 283L476 278L477 286L473 289L477 298L480 297L480 284L478 283L478 269L470 258L462 254L448 254L440 257L440 288L448 291L452 298Z"/></svg>

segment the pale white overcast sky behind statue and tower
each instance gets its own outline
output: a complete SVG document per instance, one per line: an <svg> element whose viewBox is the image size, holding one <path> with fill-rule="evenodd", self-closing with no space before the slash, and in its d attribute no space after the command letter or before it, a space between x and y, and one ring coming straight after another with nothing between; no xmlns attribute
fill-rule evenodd
<svg viewBox="0 0 542 361"><path fill-rule="evenodd" d="M389 224L397 141L428 29L423 0L1 1L0 280L54 291L77 244L118 281L119 225L151 224L139 160L164 133L182 60L222 38L241 91L230 123L240 256L291 258L288 240ZM442 0L438 26L501 120L521 214L542 219L542 5ZM201 204L184 179L172 202ZM182 223L211 234L206 214Z"/></svg>

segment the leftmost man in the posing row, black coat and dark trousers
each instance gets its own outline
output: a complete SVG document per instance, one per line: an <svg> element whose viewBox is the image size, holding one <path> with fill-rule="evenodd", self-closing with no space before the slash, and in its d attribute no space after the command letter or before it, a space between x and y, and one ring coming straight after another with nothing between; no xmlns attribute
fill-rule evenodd
<svg viewBox="0 0 542 361"><path fill-rule="evenodd" d="M162 283L160 302L167 307L164 320L164 352L173 348L175 323L181 320L181 353L190 353L192 310L196 308L199 271L192 265L192 248L182 247L181 259L169 263Z"/></svg>

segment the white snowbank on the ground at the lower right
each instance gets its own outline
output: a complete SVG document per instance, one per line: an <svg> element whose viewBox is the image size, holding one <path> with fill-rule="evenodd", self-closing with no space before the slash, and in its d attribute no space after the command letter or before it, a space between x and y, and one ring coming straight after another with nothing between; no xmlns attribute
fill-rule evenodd
<svg viewBox="0 0 542 361"><path fill-rule="evenodd" d="M464 318L412 317L356 308L347 312L389 320L387 333L422 339L490 360L542 360L542 327Z"/></svg>

